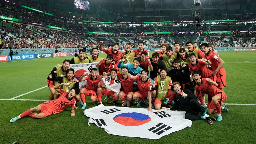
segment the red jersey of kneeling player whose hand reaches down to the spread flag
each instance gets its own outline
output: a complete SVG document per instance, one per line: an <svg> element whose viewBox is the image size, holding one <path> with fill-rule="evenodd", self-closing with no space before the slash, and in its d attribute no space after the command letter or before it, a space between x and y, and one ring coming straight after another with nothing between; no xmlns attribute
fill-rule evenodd
<svg viewBox="0 0 256 144"><path fill-rule="evenodd" d="M138 83L138 88L142 92L142 95L148 95L148 92L152 91L151 79L147 79L147 81L143 82L141 77L135 76L135 80Z"/></svg>

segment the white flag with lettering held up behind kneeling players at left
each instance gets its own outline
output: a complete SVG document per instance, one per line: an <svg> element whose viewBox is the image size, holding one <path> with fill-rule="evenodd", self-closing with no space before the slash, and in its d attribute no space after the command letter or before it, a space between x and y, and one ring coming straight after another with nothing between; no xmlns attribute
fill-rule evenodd
<svg viewBox="0 0 256 144"><path fill-rule="evenodd" d="M97 62L94 63L84 63L84 64L71 64L69 67L75 70L75 77L77 80L81 77L81 75L84 74L84 72L87 72L88 75L91 74L92 68L97 68L98 74L99 74L99 67L96 67ZM100 85L100 83L99 83ZM87 87L87 81L79 82L79 88Z"/></svg>

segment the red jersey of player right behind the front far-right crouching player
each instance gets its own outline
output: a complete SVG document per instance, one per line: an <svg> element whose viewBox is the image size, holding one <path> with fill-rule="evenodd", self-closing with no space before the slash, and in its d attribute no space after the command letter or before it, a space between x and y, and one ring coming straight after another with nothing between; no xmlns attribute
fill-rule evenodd
<svg viewBox="0 0 256 144"><path fill-rule="evenodd" d="M207 68L205 65L205 62L199 60L196 62L196 65L193 65L192 63L188 64L189 71L199 71L201 78L210 78L212 76L212 70Z"/></svg>

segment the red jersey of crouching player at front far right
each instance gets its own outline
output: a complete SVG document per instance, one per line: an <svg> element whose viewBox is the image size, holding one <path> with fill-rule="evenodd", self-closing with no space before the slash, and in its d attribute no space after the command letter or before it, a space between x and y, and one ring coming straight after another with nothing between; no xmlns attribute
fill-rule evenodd
<svg viewBox="0 0 256 144"><path fill-rule="evenodd" d="M198 96L199 96L200 92L203 92L203 93L207 94L208 99L212 99L212 97L214 97L215 95L222 92L216 86L208 83L206 78L201 79L201 84L200 85L196 84L195 91L196 91L196 95L198 95Z"/></svg>

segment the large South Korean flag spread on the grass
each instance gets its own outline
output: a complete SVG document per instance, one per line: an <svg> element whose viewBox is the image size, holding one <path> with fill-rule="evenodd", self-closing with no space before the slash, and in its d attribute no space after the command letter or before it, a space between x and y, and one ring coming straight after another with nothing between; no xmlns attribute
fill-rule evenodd
<svg viewBox="0 0 256 144"><path fill-rule="evenodd" d="M159 139L172 132L192 125L185 119L185 112L153 110L145 108L127 108L99 105L84 110L89 123L105 129L109 134Z"/></svg>

